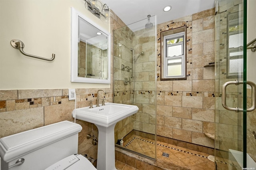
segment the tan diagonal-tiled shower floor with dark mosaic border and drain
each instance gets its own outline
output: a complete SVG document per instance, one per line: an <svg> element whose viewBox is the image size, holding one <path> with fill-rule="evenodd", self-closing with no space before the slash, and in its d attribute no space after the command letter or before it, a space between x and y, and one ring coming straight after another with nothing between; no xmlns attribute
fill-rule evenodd
<svg viewBox="0 0 256 170"><path fill-rule="evenodd" d="M154 141L137 135L132 135L128 140L124 141L123 146L150 157L154 157L155 154ZM169 154L169 157L162 156L163 153ZM208 154L164 142L157 143L156 156L157 160L170 162L191 170L214 170L214 162L207 158Z"/></svg>

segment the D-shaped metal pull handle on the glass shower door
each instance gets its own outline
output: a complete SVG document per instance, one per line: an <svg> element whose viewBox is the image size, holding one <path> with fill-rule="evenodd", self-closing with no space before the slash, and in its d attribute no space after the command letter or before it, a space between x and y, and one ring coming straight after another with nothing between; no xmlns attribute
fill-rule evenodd
<svg viewBox="0 0 256 170"><path fill-rule="evenodd" d="M238 81L238 80L228 81L228 82L226 82L222 85L222 106L225 109L229 110L229 111L236 111L236 112L243 111L243 109L241 109L241 108L228 107L227 104L226 104L226 88L227 88L228 85L232 85L232 84L233 85L240 85L240 84L243 84L243 81ZM255 100L255 98L256 98L256 91L255 91L256 85L251 81L246 81L246 84L248 84L252 87L252 107L246 109L247 112L250 112L250 111L253 111L254 109L256 109L256 100Z"/></svg>

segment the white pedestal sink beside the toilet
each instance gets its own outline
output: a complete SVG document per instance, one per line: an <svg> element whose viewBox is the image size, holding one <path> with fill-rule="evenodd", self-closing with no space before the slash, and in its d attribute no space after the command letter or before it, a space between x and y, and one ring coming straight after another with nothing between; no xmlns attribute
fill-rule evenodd
<svg viewBox="0 0 256 170"><path fill-rule="evenodd" d="M134 105L106 103L104 106L75 109L72 114L76 119L94 123L99 131L98 136L98 170L116 170L114 128L118 121L137 113Z"/></svg>

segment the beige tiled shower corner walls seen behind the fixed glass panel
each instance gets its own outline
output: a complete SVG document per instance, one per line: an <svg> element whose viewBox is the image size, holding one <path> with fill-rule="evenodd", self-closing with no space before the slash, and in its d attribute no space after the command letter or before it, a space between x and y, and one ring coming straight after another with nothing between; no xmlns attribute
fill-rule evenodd
<svg viewBox="0 0 256 170"><path fill-rule="evenodd" d="M131 48L134 49L135 57L141 51L144 52L135 62L133 78L130 78L132 70L122 70L121 67L122 65L133 67ZM128 26L124 26L114 30L114 102L123 104L133 102L139 107L138 113L116 125L115 141L132 130L155 134L155 60L154 29L146 30L143 26L143 29L132 32ZM131 80L131 83L124 85L124 78Z"/></svg>

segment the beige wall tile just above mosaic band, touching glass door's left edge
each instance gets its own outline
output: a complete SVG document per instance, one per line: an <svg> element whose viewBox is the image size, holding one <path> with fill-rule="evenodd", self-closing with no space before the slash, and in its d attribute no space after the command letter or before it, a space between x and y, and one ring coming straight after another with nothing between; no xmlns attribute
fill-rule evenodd
<svg viewBox="0 0 256 170"><path fill-rule="evenodd" d="M214 80L193 80L192 91L214 92Z"/></svg>

